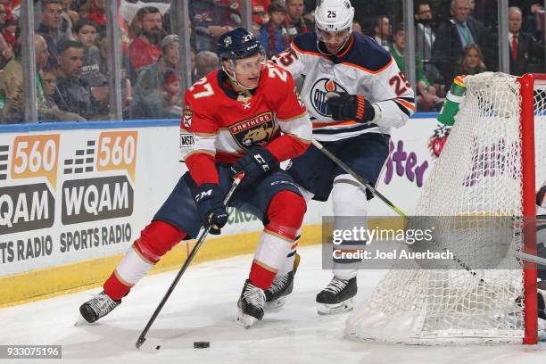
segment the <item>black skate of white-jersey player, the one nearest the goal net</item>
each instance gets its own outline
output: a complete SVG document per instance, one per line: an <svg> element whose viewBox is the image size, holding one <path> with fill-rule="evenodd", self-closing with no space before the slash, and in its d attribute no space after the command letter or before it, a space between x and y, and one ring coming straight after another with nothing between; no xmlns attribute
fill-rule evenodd
<svg viewBox="0 0 546 364"><path fill-rule="evenodd" d="M331 315L352 310L352 297L357 293L356 277L332 278L325 289L317 294L318 314Z"/></svg>

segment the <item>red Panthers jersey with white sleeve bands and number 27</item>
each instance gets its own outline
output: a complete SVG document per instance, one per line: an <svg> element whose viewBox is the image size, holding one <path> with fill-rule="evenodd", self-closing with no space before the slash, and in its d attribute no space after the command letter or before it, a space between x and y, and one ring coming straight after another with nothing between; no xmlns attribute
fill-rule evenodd
<svg viewBox="0 0 546 364"><path fill-rule="evenodd" d="M186 91L184 103L180 153L198 185L218 183L215 161L233 163L252 146L285 161L310 145L311 123L294 80L272 62L252 93L234 92L216 70Z"/></svg>

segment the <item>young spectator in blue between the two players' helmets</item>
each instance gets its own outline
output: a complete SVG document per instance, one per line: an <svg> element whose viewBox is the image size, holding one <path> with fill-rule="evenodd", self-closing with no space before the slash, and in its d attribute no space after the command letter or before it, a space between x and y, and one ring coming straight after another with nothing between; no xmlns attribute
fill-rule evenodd
<svg viewBox="0 0 546 364"><path fill-rule="evenodd" d="M269 21L261 27L260 40L269 58L284 51L292 39L285 29L285 6L275 1L269 5L268 13Z"/></svg>

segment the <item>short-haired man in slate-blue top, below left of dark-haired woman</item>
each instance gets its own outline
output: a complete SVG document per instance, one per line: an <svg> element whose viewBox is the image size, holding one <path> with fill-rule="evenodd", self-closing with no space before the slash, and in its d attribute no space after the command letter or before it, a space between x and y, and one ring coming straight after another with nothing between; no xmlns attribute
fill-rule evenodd
<svg viewBox="0 0 546 364"><path fill-rule="evenodd" d="M74 40L66 40L59 45L57 62L57 90L54 101L61 110L74 112L87 120L103 117L103 105L108 103L108 93L89 87L81 78L84 45ZM99 101L102 101L102 103Z"/></svg>

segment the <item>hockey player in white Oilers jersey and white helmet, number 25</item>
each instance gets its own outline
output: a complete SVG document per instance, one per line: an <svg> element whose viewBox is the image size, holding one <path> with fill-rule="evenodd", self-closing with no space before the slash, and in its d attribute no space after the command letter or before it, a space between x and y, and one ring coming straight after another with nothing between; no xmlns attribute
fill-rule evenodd
<svg viewBox="0 0 546 364"><path fill-rule="evenodd" d="M390 129L400 128L414 112L408 80L391 54L360 33L352 32L354 8L349 0L323 0L315 11L315 32L294 38L274 57L294 79L302 77L301 96L313 123L313 137L360 176L376 184L389 153ZM367 200L372 195L314 146L294 159L289 174L307 200L327 201L332 194L335 228L352 228L341 217L361 217L367 227ZM365 242L343 242L343 250ZM282 304L292 292L295 247L266 291L269 304ZM336 246L336 249L340 246ZM318 313L352 310L360 261L335 260L334 277L317 295Z"/></svg>

